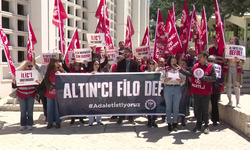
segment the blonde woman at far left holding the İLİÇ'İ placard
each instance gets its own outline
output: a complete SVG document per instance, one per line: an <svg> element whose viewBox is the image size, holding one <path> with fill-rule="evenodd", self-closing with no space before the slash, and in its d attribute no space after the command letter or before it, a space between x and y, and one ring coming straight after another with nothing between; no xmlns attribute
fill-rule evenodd
<svg viewBox="0 0 250 150"><path fill-rule="evenodd" d="M23 61L20 65L20 69L32 70L33 65L30 61ZM39 81L37 81L39 82ZM28 126L28 130L32 130L33 126L33 108L34 99L36 95L36 87L34 85L29 86L17 86L14 76L12 76L12 88L17 88L17 98L20 103L21 111L21 127L20 130L25 130Z"/></svg>

